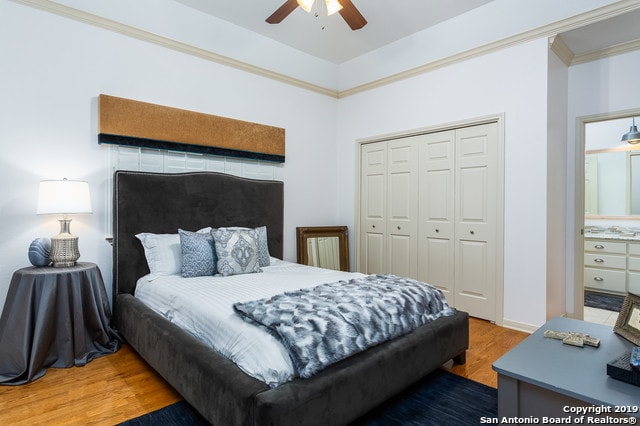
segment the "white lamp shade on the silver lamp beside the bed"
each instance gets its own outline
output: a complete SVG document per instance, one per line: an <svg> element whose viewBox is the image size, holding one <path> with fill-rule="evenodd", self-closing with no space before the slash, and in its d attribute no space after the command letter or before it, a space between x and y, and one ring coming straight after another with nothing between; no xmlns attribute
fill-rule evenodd
<svg viewBox="0 0 640 426"><path fill-rule="evenodd" d="M79 180L43 180L38 194L38 214L91 213L89 183Z"/></svg>

